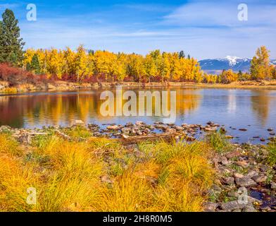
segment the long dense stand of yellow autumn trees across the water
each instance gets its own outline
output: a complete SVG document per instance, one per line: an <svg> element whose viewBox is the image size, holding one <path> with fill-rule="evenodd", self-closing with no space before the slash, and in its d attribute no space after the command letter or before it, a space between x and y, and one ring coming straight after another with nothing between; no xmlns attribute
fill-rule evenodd
<svg viewBox="0 0 276 226"><path fill-rule="evenodd" d="M36 74L81 82L97 81L197 81L202 79L198 61L183 52L155 50L140 54L87 51L82 45L73 51L63 49L27 49L23 66Z"/></svg>

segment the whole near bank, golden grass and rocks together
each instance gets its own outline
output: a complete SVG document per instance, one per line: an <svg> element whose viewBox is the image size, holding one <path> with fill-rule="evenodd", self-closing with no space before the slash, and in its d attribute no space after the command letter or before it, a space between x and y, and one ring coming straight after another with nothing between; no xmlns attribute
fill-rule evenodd
<svg viewBox="0 0 276 226"><path fill-rule="evenodd" d="M192 142L164 131L170 139L134 143L95 136L96 125L81 121L68 128L1 126L0 211L275 211L276 141L234 144L208 125ZM146 128L137 122L120 129L133 126ZM29 187L37 189L37 205L26 203Z"/></svg>

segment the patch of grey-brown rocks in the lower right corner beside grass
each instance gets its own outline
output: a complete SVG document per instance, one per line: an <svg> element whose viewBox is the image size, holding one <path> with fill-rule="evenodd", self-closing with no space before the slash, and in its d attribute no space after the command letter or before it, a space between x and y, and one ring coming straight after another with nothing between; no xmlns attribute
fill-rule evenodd
<svg viewBox="0 0 276 226"><path fill-rule="evenodd" d="M217 172L208 191L207 212L276 212L276 166L265 162L264 145L234 145L217 154L212 164Z"/></svg>

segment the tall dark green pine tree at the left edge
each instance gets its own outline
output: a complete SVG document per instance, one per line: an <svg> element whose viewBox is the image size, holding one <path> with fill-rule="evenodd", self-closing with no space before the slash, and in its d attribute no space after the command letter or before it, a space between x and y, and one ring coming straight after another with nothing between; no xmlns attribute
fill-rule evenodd
<svg viewBox="0 0 276 226"><path fill-rule="evenodd" d="M23 39L20 38L18 20L13 11L6 9L0 21L0 62L20 66L23 61Z"/></svg>

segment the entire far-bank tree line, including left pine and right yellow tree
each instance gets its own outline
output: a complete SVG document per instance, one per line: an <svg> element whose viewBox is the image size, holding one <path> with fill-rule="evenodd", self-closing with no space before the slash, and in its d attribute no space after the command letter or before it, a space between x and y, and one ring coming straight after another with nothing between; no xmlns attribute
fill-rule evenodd
<svg viewBox="0 0 276 226"><path fill-rule="evenodd" d="M27 49L23 51L24 42L20 37L18 20L13 11L6 9L0 21L0 78L25 75L32 78L45 76L47 79L96 82L96 81L134 81L165 82L191 81L196 83L232 83L234 81L276 79L275 66L270 64L270 52L262 46L257 49L251 61L249 73L222 71L218 75L201 71L199 62L184 52L161 52L154 50L143 56L141 54L113 53L108 51L84 49L80 45L75 51L66 49ZM7 69L7 64L23 70ZM1 70L1 67L4 67ZM5 76L1 74L5 71ZM16 76L14 75L16 74Z"/></svg>

